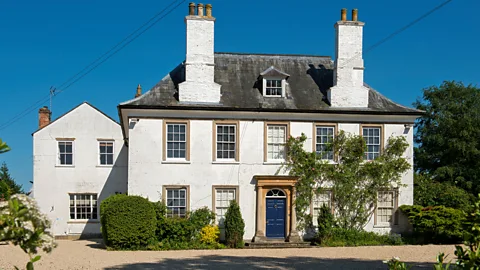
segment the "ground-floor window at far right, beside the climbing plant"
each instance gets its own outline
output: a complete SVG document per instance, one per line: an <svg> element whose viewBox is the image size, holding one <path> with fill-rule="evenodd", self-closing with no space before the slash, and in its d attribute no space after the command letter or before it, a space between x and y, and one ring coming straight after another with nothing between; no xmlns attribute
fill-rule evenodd
<svg viewBox="0 0 480 270"><path fill-rule="evenodd" d="M378 192L377 208L375 210L375 225L395 224L395 210L397 207L397 194L394 190Z"/></svg>

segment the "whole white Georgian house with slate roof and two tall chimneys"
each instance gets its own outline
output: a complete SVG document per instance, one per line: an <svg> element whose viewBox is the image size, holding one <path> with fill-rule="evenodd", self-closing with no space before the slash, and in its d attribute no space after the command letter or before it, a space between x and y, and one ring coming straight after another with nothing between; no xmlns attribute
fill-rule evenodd
<svg viewBox="0 0 480 270"><path fill-rule="evenodd" d="M181 23L182 18L179 18ZM375 159L390 136L405 136L413 165L413 128L421 111L364 83L357 10L335 23L335 56L214 52L211 5L189 5L186 55L148 92L120 103L120 121L82 103L55 121L39 111L33 133L34 191L56 236L100 233L99 205L115 193L164 200L169 215L207 206L222 226L236 200L245 239L297 241L295 177L280 172L288 136L333 161L326 145L339 130L360 134ZM181 46L182 44L178 44ZM405 184L378 194L365 229L401 231L395 215L413 203L413 168ZM328 190L311 202L332 205Z"/></svg>

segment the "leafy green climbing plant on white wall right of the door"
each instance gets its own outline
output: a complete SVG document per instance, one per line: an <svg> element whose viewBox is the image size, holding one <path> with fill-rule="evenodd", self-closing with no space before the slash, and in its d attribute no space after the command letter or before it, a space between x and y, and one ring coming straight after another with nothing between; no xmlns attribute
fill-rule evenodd
<svg viewBox="0 0 480 270"><path fill-rule="evenodd" d="M309 224L306 210L313 194L330 184L335 201L337 225L344 229L361 230L373 213L377 191L401 186L402 174L410 168L402 157L408 147L403 136L390 137L381 155L364 160L366 144L363 137L340 131L331 144L337 162L321 160L315 152L305 151L307 137L289 138L284 169L297 176L295 209L300 227Z"/></svg>

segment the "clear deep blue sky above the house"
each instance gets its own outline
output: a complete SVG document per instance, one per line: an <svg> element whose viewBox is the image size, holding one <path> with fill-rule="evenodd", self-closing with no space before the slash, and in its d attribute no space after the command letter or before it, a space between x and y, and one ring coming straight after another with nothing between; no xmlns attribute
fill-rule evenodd
<svg viewBox="0 0 480 270"><path fill-rule="evenodd" d="M172 0L1 1L0 125L48 95ZM259 1L212 0L215 51L334 54L340 9L359 9L364 48L413 21L443 0ZM204 2L206 4L208 2ZM137 84L150 89L185 58L188 1L106 63L53 100L53 118L89 101L114 119ZM478 0L453 0L420 23L364 55L365 81L410 106L421 90L443 80L480 84ZM41 104L49 105L48 102ZM40 106L39 106L40 107ZM33 179L32 136L38 108L0 138L12 151L0 156L27 190Z"/></svg>

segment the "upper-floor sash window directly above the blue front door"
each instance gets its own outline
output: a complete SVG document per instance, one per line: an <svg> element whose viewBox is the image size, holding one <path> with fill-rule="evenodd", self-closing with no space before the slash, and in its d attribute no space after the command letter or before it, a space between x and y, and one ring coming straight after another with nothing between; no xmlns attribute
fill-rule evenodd
<svg viewBox="0 0 480 270"><path fill-rule="evenodd" d="M266 128L266 160L282 161L285 160L285 143L287 141L286 124L267 124Z"/></svg>

